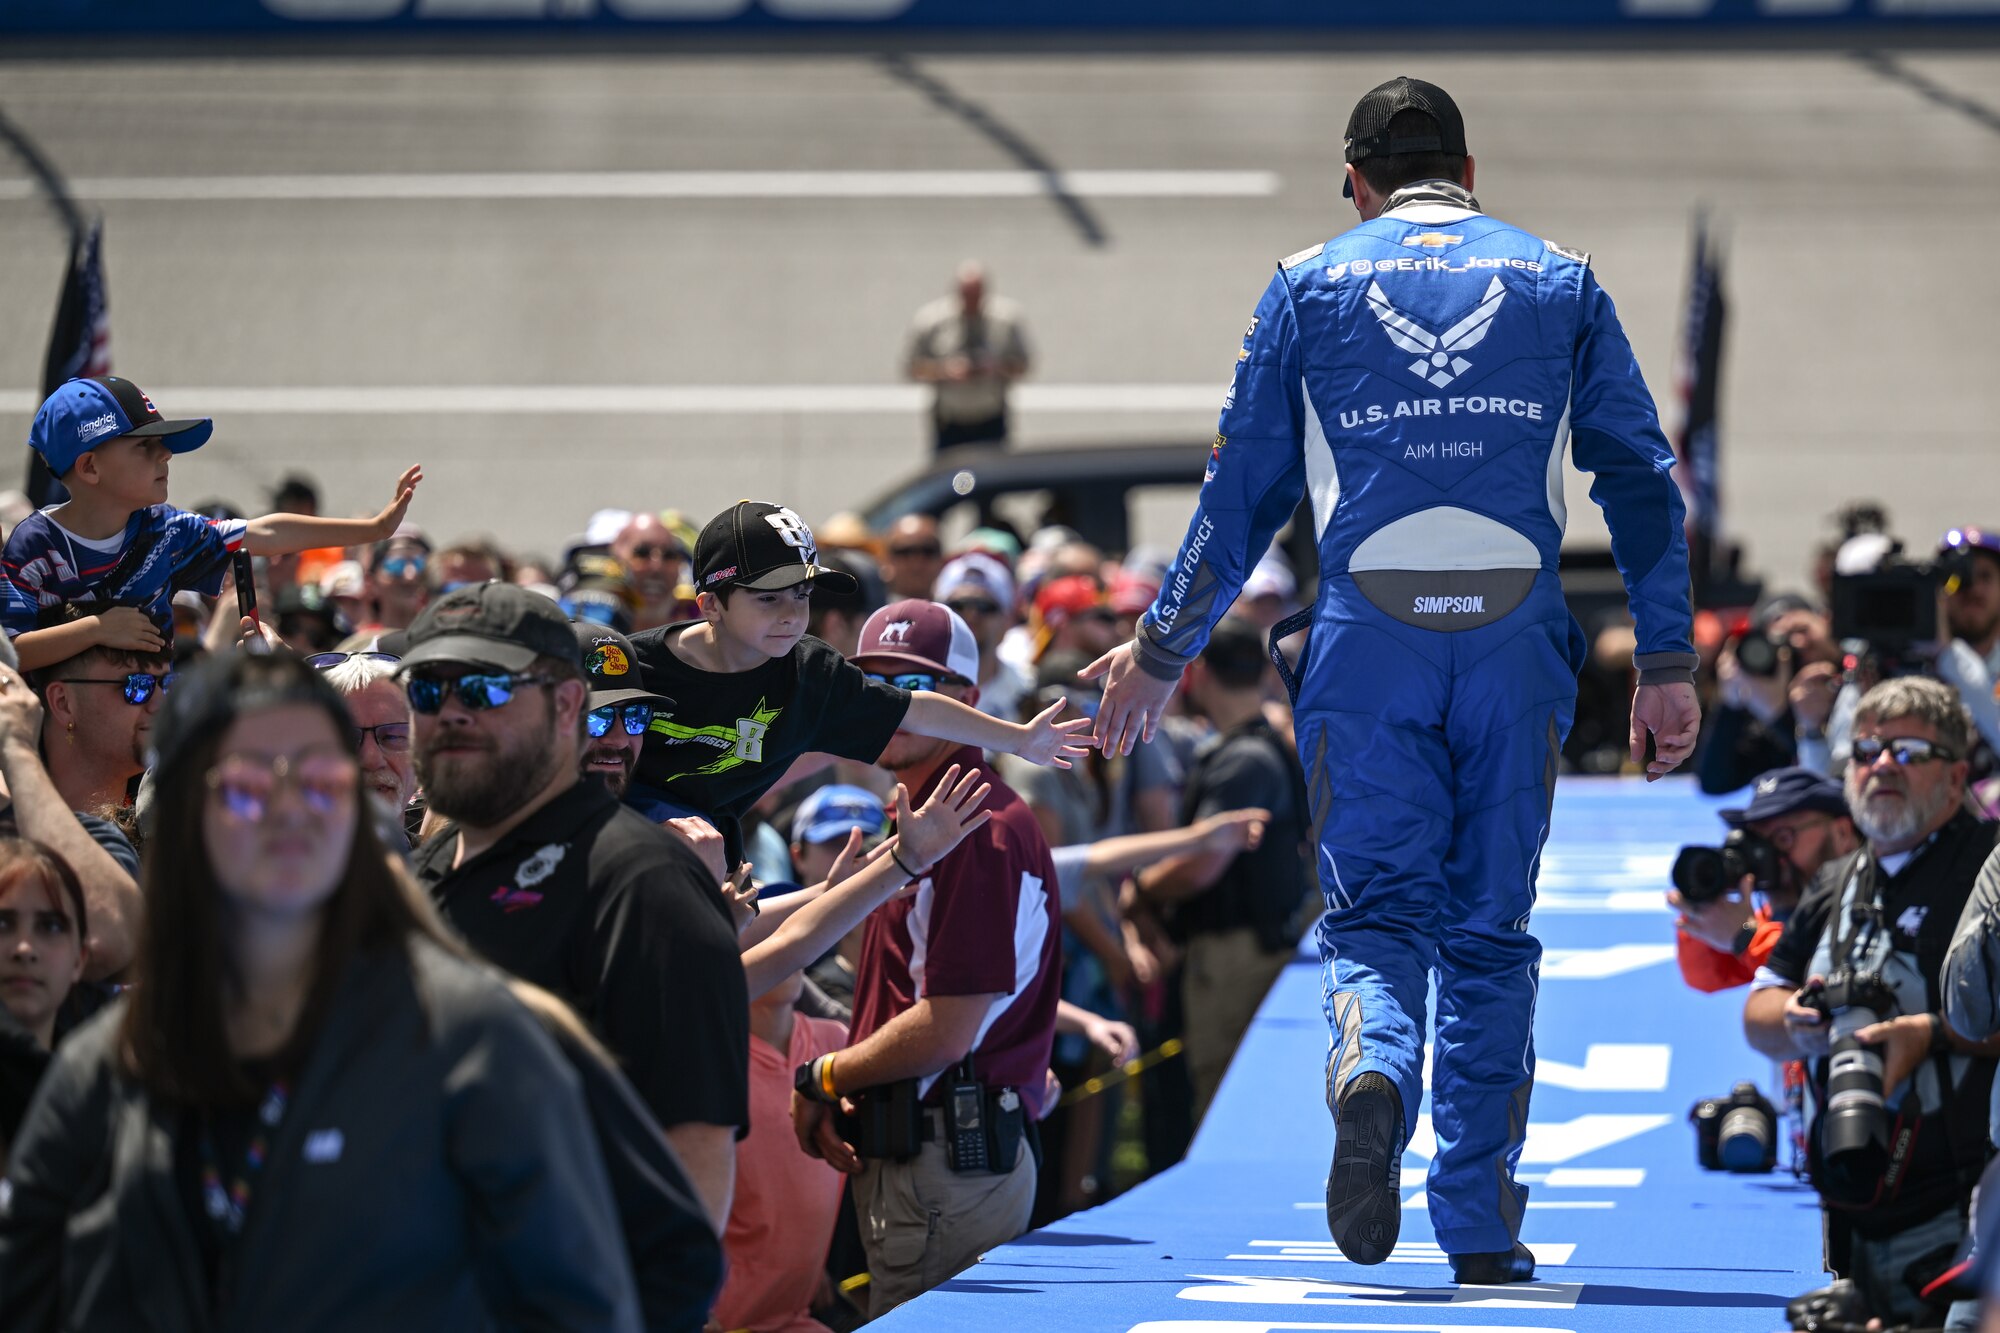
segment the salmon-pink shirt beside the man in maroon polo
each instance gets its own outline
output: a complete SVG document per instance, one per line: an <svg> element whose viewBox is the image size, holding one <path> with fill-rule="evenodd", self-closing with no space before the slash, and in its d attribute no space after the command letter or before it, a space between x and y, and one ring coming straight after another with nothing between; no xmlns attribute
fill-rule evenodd
<svg viewBox="0 0 2000 1333"><path fill-rule="evenodd" d="M812 1297L834 1241L842 1175L792 1135L792 1071L848 1045L832 1019L798 1015L792 1049L750 1037L750 1135L736 1145L736 1199L722 1237L730 1275L712 1319L754 1333L826 1333Z"/></svg>

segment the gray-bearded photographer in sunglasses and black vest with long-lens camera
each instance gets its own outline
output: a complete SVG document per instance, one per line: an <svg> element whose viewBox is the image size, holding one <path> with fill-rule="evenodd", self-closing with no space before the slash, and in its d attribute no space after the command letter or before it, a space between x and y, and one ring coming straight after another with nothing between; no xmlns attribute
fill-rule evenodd
<svg viewBox="0 0 2000 1333"><path fill-rule="evenodd" d="M1890 1321L1926 1313L1918 1291L1948 1267L1988 1155L2000 1043L1940 1015L1946 947L1996 841L1964 811L1970 741L1938 681L1860 699L1846 795L1866 843L1820 873L1744 1005L1752 1047L1812 1061L1826 1263Z"/></svg>

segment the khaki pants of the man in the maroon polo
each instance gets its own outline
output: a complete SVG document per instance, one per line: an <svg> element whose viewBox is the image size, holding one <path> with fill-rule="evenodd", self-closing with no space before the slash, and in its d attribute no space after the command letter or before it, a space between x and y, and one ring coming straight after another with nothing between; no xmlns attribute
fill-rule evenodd
<svg viewBox="0 0 2000 1333"><path fill-rule="evenodd" d="M854 1177L854 1215L868 1253L868 1317L930 1291L1028 1229L1034 1153L1026 1137L1006 1175L954 1175L944 1145L910 1161L868 1161Z"/></svg>

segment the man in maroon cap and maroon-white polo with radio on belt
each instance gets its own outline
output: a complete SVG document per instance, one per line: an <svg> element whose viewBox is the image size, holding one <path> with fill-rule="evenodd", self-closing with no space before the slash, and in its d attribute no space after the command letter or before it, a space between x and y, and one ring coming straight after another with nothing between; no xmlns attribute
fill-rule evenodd
<svg viewBox="0 0 2000 1333"><path fill-rule="evenodd" d="M904 691L978 705L980 648L948 606L892 602L868 616L854 664ZM882 751L912 801L978 749L898 731ZM854 1175L872 1313L936 1287L1028 1229L1056 1035L1062 903L1034 813L988 775L992 819L868 919L844 1051L800 1065L800 1145ZM836 1125L902 1117L886 1139ZM860 1143L854 1143L860 1139ZM924 1203L916 1203L922 1199Z"/></svg>

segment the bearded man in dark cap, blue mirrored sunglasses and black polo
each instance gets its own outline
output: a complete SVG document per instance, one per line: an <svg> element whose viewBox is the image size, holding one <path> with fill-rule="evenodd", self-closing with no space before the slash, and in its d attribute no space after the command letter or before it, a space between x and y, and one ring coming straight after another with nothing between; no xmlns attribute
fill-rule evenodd
<svg viewBox="0 0 2000 1333"><path fill-rule="evenodd" d="M468 945L590 1023L720 1231L750 1095L736 931L680 839L582 781L576 628L526 588L460 588L410 626L402 675L416 773L450 821L418 881Z"/></svg>

